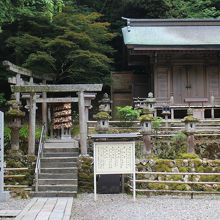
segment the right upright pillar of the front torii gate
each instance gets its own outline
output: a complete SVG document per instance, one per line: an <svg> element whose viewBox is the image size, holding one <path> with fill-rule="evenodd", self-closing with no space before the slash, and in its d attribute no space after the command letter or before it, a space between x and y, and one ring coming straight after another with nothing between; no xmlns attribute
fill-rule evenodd
<svg viewBox="0 0 220 220"><path fill-rule="evenodd" d="M85 117L85 99L84 92L78 92L79 99L79 127L80 127L80 148L81 154L87 155L87 123Z"/></svg>

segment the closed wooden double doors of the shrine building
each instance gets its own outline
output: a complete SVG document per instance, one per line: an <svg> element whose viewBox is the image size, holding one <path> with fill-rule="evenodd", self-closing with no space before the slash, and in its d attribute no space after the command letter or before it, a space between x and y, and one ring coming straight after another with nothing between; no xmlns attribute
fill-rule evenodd
<svg viewBox="0 0 220 220"><path fill-rule="evenodd" d="M183 104L185 98L204 98L205 74L202 65L173 67L173 96L175 104Z"/></svg>

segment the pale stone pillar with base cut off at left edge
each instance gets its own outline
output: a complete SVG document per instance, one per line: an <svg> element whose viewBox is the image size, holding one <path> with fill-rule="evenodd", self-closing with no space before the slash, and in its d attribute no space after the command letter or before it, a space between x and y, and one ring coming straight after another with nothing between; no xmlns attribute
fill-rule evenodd
<svg viewBox="0 0 220 220"><path fill-rule="evenodd" d="M9 192L4 191L4 114L0 112L0 202L9 198Z"/></svg>

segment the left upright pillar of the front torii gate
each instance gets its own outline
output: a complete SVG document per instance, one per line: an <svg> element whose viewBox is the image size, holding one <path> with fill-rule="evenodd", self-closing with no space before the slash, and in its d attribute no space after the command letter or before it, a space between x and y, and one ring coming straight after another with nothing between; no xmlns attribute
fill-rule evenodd
<svg viewBox="0 0 220 220"><path fill-rule="evenodd" d="M35 154L36 93L30 93L28 154Z"/></svg>

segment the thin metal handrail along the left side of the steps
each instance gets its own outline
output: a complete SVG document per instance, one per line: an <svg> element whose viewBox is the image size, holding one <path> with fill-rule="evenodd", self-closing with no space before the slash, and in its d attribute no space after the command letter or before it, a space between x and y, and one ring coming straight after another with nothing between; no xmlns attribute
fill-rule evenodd
<svg viewBox="0 0 220 220"><path fill-rule="evenodd" d="M41 168L40 159L43 157L45 137L46 137L46 129L45 129L45 125L43 125L41 129L41 136L40 136L38 155L37 155L37 161L36 161L36 167L35 167L35 191L36 192L38 192L38 175L40 174L40 168Z"/></svg>

